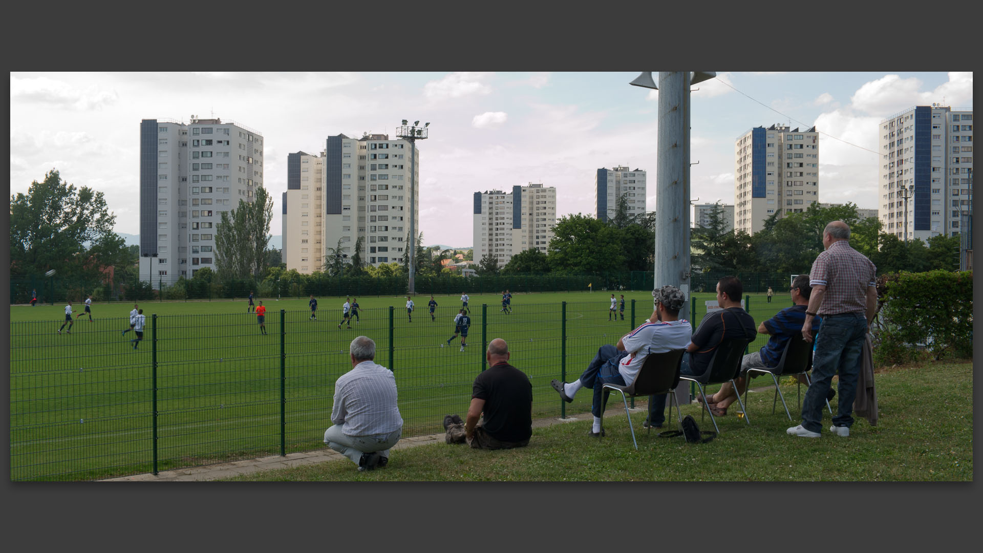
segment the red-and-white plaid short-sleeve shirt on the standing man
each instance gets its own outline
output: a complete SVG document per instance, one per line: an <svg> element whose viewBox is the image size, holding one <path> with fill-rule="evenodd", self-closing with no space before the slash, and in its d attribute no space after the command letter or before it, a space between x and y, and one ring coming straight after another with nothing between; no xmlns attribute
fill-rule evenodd
<svg viewBox="0 0 983 553"><path fill-rule="evenodd" d="M812 264L809 284L826 286L819 315L865 312L867 287L877 286L877 267L866 256L837 240Z"/></svg>

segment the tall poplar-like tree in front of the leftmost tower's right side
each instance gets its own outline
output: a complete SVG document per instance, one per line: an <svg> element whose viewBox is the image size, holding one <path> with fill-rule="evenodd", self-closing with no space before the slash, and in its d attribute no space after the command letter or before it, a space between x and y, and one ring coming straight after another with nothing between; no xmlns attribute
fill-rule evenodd
<svg viewBox="0 0 983 553"><path fill-rule="evenodd" d="M257 187L253 202L239 201L231 212L221 212L215 227L215 268L223 278L262 276L269 244L273 199Z"/></svg>

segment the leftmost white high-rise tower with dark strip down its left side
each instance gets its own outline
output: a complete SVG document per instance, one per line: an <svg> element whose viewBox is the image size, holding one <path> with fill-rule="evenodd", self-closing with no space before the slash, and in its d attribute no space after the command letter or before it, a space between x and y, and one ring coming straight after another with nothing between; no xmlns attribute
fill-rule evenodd
<svg viewBox="0 0 983 553"><path fill-rule="evenodd" d="M262 135L233 121L140 125L140 279L154 287L215 270L215 225L262 186Z"/></svg>

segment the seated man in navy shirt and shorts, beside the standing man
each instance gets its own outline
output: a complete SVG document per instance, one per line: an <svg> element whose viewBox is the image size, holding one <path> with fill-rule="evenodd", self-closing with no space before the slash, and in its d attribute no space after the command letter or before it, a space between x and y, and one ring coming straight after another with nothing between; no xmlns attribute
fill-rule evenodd
<svg viewBox="0 0 983 553"><path fill-rule="evenodd" d="M812 295L812 286L809 284L809 276L796 276L792 280L791 288L792 303L795 305L782 309L758 327L758 333L771 335L771 338L768 338L768 343L760 351L752 351L744 356L740 365L741 375L735 379L737 392L734 393L734 387L729 382L724 382L717 394L707 397L710 411L714 413L714 416L725 415L727 406L736 401L738 395L744 393L744 389L747 388L747 370L749 368L774 369L779 364L781 352L788 340L801 339L802 324L805 323L805 309L809 304L810 295ZM752 378L760 374L752 373ZM831 389L831 391L833 390ZM697 399L702 401L702 398Z"/></svg>

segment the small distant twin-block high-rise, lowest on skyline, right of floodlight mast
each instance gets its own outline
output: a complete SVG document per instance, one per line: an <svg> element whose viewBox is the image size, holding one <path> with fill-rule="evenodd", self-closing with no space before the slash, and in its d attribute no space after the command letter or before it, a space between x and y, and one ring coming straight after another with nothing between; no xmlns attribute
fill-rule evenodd
<svg viewBox="0 0 983 553"><path fill-rule="evenodd" d="M529 183L512 192L475 192L474 260L487 254L504 267L512 256L529 249L547 253L556 225L556 188Z"/></svg>

